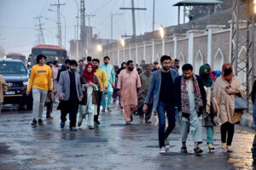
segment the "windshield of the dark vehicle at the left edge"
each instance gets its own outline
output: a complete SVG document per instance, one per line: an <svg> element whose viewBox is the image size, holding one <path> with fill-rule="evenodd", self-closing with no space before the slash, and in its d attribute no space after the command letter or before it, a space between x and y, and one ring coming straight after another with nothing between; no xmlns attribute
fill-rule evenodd
<svg viewBox="0 0 256 170"><path fill-rule="evenodd" d="M27 74L27 71L20 62L0 61L0 74Z"/></svg>

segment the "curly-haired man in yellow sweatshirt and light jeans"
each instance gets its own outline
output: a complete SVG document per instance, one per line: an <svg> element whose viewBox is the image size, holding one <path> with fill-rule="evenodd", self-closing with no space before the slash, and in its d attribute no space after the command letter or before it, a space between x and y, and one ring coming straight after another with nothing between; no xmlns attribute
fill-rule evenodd
<svg viewBox="0 0 256 170"><path fill-rule="evenodd" d="M33 96L33 111L32 111L32 127L37 127L38 125L44 125L43 111L44 103L48 91L52 91L51 82L51 69L49 65L44 65L46 56L43 54L38 54L37 65L33 65L32 72L29 80L29 85L26 90L26 95L29 95L32 90ZM38 121L37 121L38 119Z"/></svg>

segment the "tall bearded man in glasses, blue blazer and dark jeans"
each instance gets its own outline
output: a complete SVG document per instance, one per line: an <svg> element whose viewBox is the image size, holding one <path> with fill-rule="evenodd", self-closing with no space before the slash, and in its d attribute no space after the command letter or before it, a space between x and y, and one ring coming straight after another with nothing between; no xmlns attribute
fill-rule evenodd
<svg viewBox="0 0 256 170"><path fill-rule="evenodd" d="M175 99L174 99L174 81L177 77L177 71L171 69L171 57L163 55L160 59L162 69L154 71L150 88L145 99L143 111L148 111L148 104L154 95L154 112L157 112L159 118L159 146L160 154L166 153L169 144L166 142L169 134L175 127ZM168 127L166 128L166 116Z"/></svg>

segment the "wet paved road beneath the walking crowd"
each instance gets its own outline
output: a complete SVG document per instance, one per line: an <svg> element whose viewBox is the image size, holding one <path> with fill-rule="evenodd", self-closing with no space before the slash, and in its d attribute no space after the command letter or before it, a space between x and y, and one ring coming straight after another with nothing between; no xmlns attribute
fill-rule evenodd
<svg viewBox="0 0 256 170"><path fill-rule="evenodd" d="M32 113L3 107L0 115L0 169L253 169L251 146L254 131L236 125L233 153L220 150L219 128L215 128L214 152L193 155L189 137L189 154L181 154L177 128L170 135L171 148L166 155L158 153L158 128L141 124L135 116L131 126L125 126L117 105L112 113L101 116L101 126L95 130L86 122L77 132L68 126L60 129L60 111L53 121L44 121L43 127L30 127ZM44 114L45 116L45 114ZM205 130L204 130L205 131ZM206 134L204 133L206 140Z"/></svg>

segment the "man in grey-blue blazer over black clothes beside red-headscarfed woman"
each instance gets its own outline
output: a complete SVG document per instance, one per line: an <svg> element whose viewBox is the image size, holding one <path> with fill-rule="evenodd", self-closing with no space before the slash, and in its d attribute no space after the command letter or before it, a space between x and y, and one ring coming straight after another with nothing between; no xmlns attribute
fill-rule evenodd
<svg viewBox="0 0 256 170"><path fill-rule="evenodd" d="M71 131L76 131L77 113L79 110L79 100L83 98L80 75L76 72L78 63L76 60L70 61L68 71L62 71L58 84L58 94L61 100L58 109L61 110L61 128L64 128L67 113L69 113L69 127Z"/></svg>

